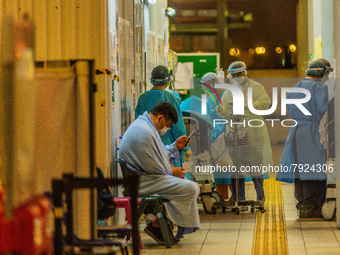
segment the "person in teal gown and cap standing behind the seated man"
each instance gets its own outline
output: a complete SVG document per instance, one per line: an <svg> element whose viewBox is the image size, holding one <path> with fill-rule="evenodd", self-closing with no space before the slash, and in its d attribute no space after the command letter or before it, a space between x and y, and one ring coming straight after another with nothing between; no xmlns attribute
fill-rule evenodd
<svg viewBox="0 0 340 255"><path fill-rule="evenodd" d="M135 110L135 118L142 115L145 111L149 112L159 102L168 102L172 104L178 114L178 122L171 129L161 136L162 142L165 145L172 144L178 137L186 135L186 129L183 121L183 116L180 109L181 101L170 92L166 91L166 87L170 82L169 70L165 66L157 66L151 72L151 90L143 93L139 99ZM184 154L189 148L180 151L181 159L172 161L173 166L181 166L184 161Z"/></svg>

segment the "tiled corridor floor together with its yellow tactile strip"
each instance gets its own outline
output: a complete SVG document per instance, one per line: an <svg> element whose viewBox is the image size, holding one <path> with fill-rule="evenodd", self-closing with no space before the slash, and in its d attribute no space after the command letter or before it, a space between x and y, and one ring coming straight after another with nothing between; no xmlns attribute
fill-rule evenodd
<svg viewBox="0 0 340 255"><path fill-rule="evenodd" d="M265 214L250 210L239 215L231 210L207 214L201 206L201 229L190 240L168 250L144 234L148 248L143 254L339 254L335 221L299 218L292 184L281 185L271 178L264 187ZM250 183L246 193L255 199Z"/></svg>

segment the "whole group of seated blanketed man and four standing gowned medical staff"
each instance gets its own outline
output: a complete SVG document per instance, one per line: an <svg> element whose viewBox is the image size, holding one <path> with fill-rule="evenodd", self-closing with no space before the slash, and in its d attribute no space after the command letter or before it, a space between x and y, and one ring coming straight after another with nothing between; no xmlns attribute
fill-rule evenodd
<svg viewBox="0 0 340 255"><path fill-rule="evenodd" d="M190 180L191 176L186 174L182 165L191 154L182 110L195 111L203 120L213 122L210 137L209 134L203 135L211 143L217 143L220 137L233 133L233 124L240 125L246 142L237 147L225 146L228 157L237 164L227 166L213 162L214 165L196 166L195 169L200 173L214 173L214 182L222 199L228 199L227 191L231 184L231 199L235 201L238 197L240 201L245 200L245 181L253 181L257 200L264 206L263 180L268 178L267 172L276 172L278 181L294 183L298 201L296 207L301 218L322 217L326 172L332 172L334 167L326 164L325 148L320 142L318 129L328 105L328 87L324 82L332 70L325 59L312 61L306 70L306 78L294 88L285 90L289 93L287 98L284 93L283 106L287 106L292 119L279 120L263 118L262 115L266 114L262 113L275 111L277 96L273 96L276 102L272 105L264 87L248 78L244 62L233 62L228 68L228 79L240 92L236 97L239 100L234 98L232 87L223 89L215 73L209 72L202 77L200 84L203 91L207 87L217 89L205 102L207 112L204 113L207 116L201 115L202 102L199 97L192 95L181 102L178 95L167 91L171 80L167 67L157 66L153 69L153 87L140 96L135 111L136 120L125 132L119 151L129 171L141 176L140 195L158 194L171 198L164 206L167 219L178 226L174 242L179 242L185 234L193 233L200 227L197 207L200 189L194 180ZM217 100L220 104L216 104ZM246 100L249 105L244 104ZM229 111L231 104L241 104L242 109L236 110L244 113L247 121L238 118L233 123L233 114ZM281 111L286 115L286 107ZM265 125L268 121L272 127L280 121L283 127L290 128L278 166L273 164L269 133ZM287 122L291 122L291 125ZM213 158L213 155L210 156ZM238 174L235 175L236 172ZM247 210L247 207L243 209ZM164 244L157 219L147 225L145 232L159 244Z"/></svg>

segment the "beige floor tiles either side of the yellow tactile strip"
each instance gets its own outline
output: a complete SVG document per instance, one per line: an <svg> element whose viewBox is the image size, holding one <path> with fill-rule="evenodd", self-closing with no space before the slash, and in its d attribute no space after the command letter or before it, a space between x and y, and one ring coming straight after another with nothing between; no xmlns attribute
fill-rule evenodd
<svg viewBox="0 0 340 255"><path fill-rule="evenodd" d="M248 199L254 199L252 183L246 184L246 193ZM340 254L340 229L336 228L336 222L299 219L294 186L282 184L282 194L289 254ZM141 229L144 244L141 254L252 254L256 213L259 212L236 215L227 210L223 214L219 210L213 215L200 208L200 230L185 236L171 249L158 245Z"/></svg>

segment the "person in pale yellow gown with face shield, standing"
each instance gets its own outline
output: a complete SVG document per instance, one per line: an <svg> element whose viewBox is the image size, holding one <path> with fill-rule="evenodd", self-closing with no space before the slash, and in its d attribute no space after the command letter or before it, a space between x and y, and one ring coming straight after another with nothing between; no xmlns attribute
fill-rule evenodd
<svg viewBox="0 0 340 255"><path fill-rule="evenodd" d="M242 90L244 95L244 102L248 101L248 88L252 88L252 100L254 108L257 110L266 110L270 107L270 97L260 83L247 77L247 70L244 62L236 61L231 63L228 68L228 74L231 77L230 80L233 82L233 85ZM233 101L232 93L229 90L226 90L223 93L221 100L222 106L216 106L215 110L217 114L221 117L227 117L228 104ZM248 119L260 119L264 122L263 117L250 112L247 105L245 105L244 114L245 116L247 116ZM259 169L262 165L273 165L270 139L266 125L263 125L261 127L251 127L249 125L247 126L246 124L245 127L243 127L243 125L241 127L248 136L248 145L238 147L238 158L235 158L235 149L229 149L229 154L232 157L234 165L236 161L238 161L239 167L242 166L252 168L254 166L257 166ZM232 129L228 125L227 132L230 131L232 131ZM263 189L264 174L262 173L262 171L253 171L247 174L251 176L254 182L257 200L259 200L263 205L265 201L265 194ZM242 176L242 173L239 173L238 177L240 185L239 200L245 200L244 177ZM235 184L236 180L232 177L232 194L234 200L236 197Z"/></svg>

